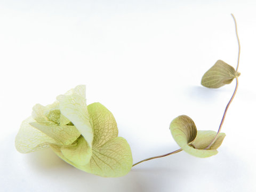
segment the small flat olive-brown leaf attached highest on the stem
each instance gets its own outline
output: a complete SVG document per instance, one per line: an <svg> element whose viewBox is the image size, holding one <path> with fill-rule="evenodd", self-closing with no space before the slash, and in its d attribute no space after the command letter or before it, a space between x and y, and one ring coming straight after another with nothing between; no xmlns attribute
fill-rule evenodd
<svg viewBox="0 0 256 192"><path fill-rule="evenodd" d="M202 77L201 84L209 88L219 88L230 84L233 79L239 76L234 67L228 65L222 60L218 60Z"/></svg>

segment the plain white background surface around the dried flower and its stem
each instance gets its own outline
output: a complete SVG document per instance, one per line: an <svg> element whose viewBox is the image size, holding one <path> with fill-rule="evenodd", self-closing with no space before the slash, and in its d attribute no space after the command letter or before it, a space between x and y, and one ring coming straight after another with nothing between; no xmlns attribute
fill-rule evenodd
<svg viewBox="0 0 256 192"><path fill-rule="evenodd" d="M1 191L256 191L255 1L0 1ZM134 166L121 178L75 169L51 149L15 150L36 103L86 84L87 102L115 116L133 161L178 149L169 125L186 114L217 131L235 82L200 85L218 59L236 67L239 87L219 153L181 152Z"/></svg>

